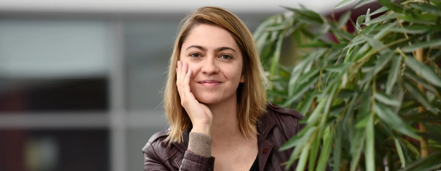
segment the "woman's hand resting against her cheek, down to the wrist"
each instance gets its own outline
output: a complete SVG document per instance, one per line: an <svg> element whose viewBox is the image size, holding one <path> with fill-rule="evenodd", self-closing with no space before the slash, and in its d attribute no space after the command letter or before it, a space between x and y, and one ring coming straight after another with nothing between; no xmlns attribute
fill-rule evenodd
<svg viewBox="0 0 441 171"><path fill-rule="evenodd" d="M199 103L190 91L191 69L188 64L178 61L176 68L176 86L178 87L179 96L181 97L181 105L190 116L193 129L191 132L203 133L210 135L211 123L213 115L208 107Z"/></svg>

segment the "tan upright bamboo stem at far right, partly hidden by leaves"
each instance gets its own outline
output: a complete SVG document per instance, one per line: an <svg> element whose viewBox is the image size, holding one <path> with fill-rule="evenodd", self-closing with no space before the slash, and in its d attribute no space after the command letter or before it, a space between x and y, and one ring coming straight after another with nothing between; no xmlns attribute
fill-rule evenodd
<svg viewBox="0 0 441 171"><path fill-rule="evenodd" d="M424 63L424 59L423 59L423 54L422 54L422 49L418 49L415 51L415 58L419 61L419 62L423 62ZM419 74L419 73L418 73ZM426 92L425 88L421 85L421 84L417 84L419 91L421 91L422 94L424 94ZM419 106L418 107L418 113L422 113L424 112L426 109L423 106ZM419 131L421 133L427 133L427 128L426 126L424 126L424 124L419 123ZM429 149L428 147L428 142L427 142L427 138L423 138L421 137L421 158L426 157L427 155L429 155Z"/></svg>

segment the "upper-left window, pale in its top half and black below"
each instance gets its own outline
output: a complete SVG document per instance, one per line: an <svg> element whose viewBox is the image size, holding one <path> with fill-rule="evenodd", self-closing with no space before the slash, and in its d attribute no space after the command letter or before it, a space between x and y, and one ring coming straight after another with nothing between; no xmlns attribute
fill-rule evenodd
<svg viewBox="0 0 441 171"><path fill-rule="evenodd" d="M108 109L111 25L0 20L0 112Z"/></svg>

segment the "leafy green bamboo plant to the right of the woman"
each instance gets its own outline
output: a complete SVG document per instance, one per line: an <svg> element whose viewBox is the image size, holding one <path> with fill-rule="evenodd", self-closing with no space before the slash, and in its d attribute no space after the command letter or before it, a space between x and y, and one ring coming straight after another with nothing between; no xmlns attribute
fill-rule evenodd
<svg viewBox="0 0 441 171"><path fill-rule="evenodd" d="M286 168L296 160L299 171L441 167L441 2L377 1L381 8L355 21L351 11L336 20L285 7L254 32L269 101L305 115L305 127L280 148L293 148ZM280 63L290 38L299 48L292 66Z"/></svg>

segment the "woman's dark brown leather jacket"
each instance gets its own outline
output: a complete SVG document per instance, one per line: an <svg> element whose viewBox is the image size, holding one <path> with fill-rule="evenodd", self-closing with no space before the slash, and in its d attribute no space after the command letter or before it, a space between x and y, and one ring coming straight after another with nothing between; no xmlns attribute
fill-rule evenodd
<svg viewBox="0 0 441 171"><path fill-rule="evenodd" d="M293 109L285 109L268 103L267 112L258 121L259 171L284 171L281 163L288 161L292 149L278 149L297 134L303 115ZM214 157L198 156L187 151L189 130L183 132L183 142L165 144L167 131L154 134L142 149L144 171L213 171ZM294 170L296 163L293 165ZM330 170L329 166L326 170Z"/></svg>

